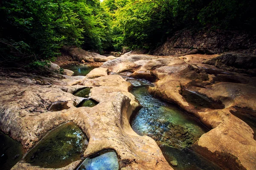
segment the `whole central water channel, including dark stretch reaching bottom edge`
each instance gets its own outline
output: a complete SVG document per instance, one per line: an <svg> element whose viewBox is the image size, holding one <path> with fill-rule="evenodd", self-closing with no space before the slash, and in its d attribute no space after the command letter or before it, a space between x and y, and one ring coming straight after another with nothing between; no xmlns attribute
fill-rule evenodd
<svg viewBox="0 0 256 170"><path fill-rule="evenodd" d="M139 135L153 138L166 160L177 161L175 170L219 170L211 161L188 148L207 132L195 117L172 103L148 94L148 86L135 87L131 93L142 109L133 117L131 126Z"/></svg>

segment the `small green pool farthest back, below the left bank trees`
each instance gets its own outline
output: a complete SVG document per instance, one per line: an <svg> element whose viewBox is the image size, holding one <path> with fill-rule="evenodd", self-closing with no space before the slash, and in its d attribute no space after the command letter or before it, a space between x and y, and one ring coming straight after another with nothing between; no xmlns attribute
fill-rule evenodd
<svg viewBox="0 0 256 170"><path fill-rule="evenodd" d="M92 71L94 68L88 65L65 65L62 68L68 69L74 72L74 76L86 76L90 71Z"/></svg>

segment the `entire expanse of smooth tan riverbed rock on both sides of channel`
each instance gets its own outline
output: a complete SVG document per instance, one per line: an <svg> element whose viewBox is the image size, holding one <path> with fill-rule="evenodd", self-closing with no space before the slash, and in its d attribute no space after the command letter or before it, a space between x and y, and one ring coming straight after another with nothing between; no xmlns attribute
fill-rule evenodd
<svg viewBox="0 0 256 170"><path fill-rule="evenodd" d="M134 86L125 79L147 79L153 84L153 87L148 87L149 94L174 103L209 129L189 143L194 152L222 169L254 170L255 122L250 117L254 117L256 111L256 77L250 74L253 69L230 70L223 65L216 68L207 64L207 61L216 61L216 57L217 54L160 57L128 53L108 59L87 76L2 74L0 129L20 142L26 153L53 128L65 122L75 123L89 142L81 159L61 167L63 170L76 169L82 160L94 158L107 150L116 153L119 169L172 170L170 160L163 156L154 137L140 136L130 125L132 114L141 105L129 92ZM228 67L236 68L237 65ZM113 72L129 74L121 76ZM74 95L84 88L91 88L88 95ZM96 104L77 107L85 99L92 99ZM50 108L56 102L62 104L54 111ZM242 116L237 116L239 113ZM248 119L250 124L247 124ZM172 128L173 124L167 126ZM165 149L174 152L172 148ZM12 169L50 168L38 167L21 159Z"/></svg>

